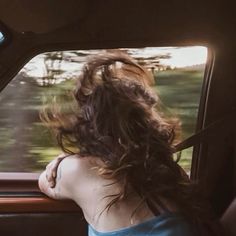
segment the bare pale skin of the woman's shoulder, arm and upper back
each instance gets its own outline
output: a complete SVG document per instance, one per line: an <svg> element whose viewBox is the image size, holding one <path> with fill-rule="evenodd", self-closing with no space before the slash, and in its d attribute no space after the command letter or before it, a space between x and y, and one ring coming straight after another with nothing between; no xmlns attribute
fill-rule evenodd
<svg viewBox="0 0 236 236"><path fill-rule="evenodd" d="M134 194L106 209L122 186L98 174L101 164L98 158L69 156L58 167L55 188L47 185L46 171L40 176L39 186L53 198L74 200L81 207L86 221L99 231L113 231L153 218L146 204L132 217L141 200Z"/></svg>

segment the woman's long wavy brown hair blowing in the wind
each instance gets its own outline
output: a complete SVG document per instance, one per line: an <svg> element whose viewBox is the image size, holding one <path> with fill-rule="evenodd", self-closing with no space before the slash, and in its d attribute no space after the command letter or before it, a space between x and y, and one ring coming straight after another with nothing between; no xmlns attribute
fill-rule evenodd
<svg viewBox="0 0 236 236"><path fill-rule="evenodd" d="M41 116L63 151L76 146L81 156L100 158L99 173L121 183L108 209L131 187L149 206L167 199L186 216L201 217L194 186L173 158L178 123L163 118L151 81L120 51L93 56L78 79L73 110L45 110Z"/></svg>

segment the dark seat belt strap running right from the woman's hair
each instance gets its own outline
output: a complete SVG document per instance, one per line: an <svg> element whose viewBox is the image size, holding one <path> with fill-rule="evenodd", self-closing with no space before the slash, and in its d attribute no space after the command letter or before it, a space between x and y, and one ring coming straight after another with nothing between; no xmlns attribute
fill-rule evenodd
<svg viewBox="0 0 236 236"><path fill-rule="evenodd" d="M233 111L227 113L226 115L224 115L220 119L209 124L204 129L198 131L197 133L188 137L184 141L178 143L177 145L175 145L174 153L181 152L184 149L187 149L187 148L192 147L196 144L202 143L203 141L206 141L211 135L213 135L217 131L219 131L219 129L221 128L220 125L222 125L225 121L232 118L235 114L236 114L236 109L233 109Z"/></svg>

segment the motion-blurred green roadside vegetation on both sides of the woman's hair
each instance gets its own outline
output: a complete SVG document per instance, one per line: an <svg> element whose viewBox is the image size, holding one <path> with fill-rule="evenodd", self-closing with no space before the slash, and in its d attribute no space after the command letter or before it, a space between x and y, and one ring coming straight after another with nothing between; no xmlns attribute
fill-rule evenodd
<svg viewBox="0 0 236 236"><path fill-rule="evenodd" d="M61 68L50 72L50 76L60 77ZM49 66L47 69L50 70ZM180 119L182 139L195 131L203 73L204 67L188 70L166 68L154 72L154 89L161 98L166 115ZM55 83L56 77L51 79L53 84L39 84L35 78L19 73L1 92L1 172L38 172L60 153L53 135L40 122L38 112L45 98L71 91L75 80L64 79ZM186 171L190 169L191 155L191 149L182 153L180 164Z"/></svg>

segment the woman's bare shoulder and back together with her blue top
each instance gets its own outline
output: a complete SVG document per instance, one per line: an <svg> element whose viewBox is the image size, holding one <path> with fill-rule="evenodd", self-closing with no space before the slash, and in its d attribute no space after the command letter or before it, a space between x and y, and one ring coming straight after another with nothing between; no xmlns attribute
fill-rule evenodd
<svg viewBox="0 0 236 236"><path fill-rule="evenodd" d="M141 198L136 194L106 209L122 186L99 175L102 165L98 158L69 156L58 167L57 185L53 189L57 198L72 199L81 207L89 224L89 236L194 235L181 214L168 211L155 216L145 203L140 205ZM40 177L40 188L50 195L52 192L47 192L44 186L45 174Z"/></svg>

